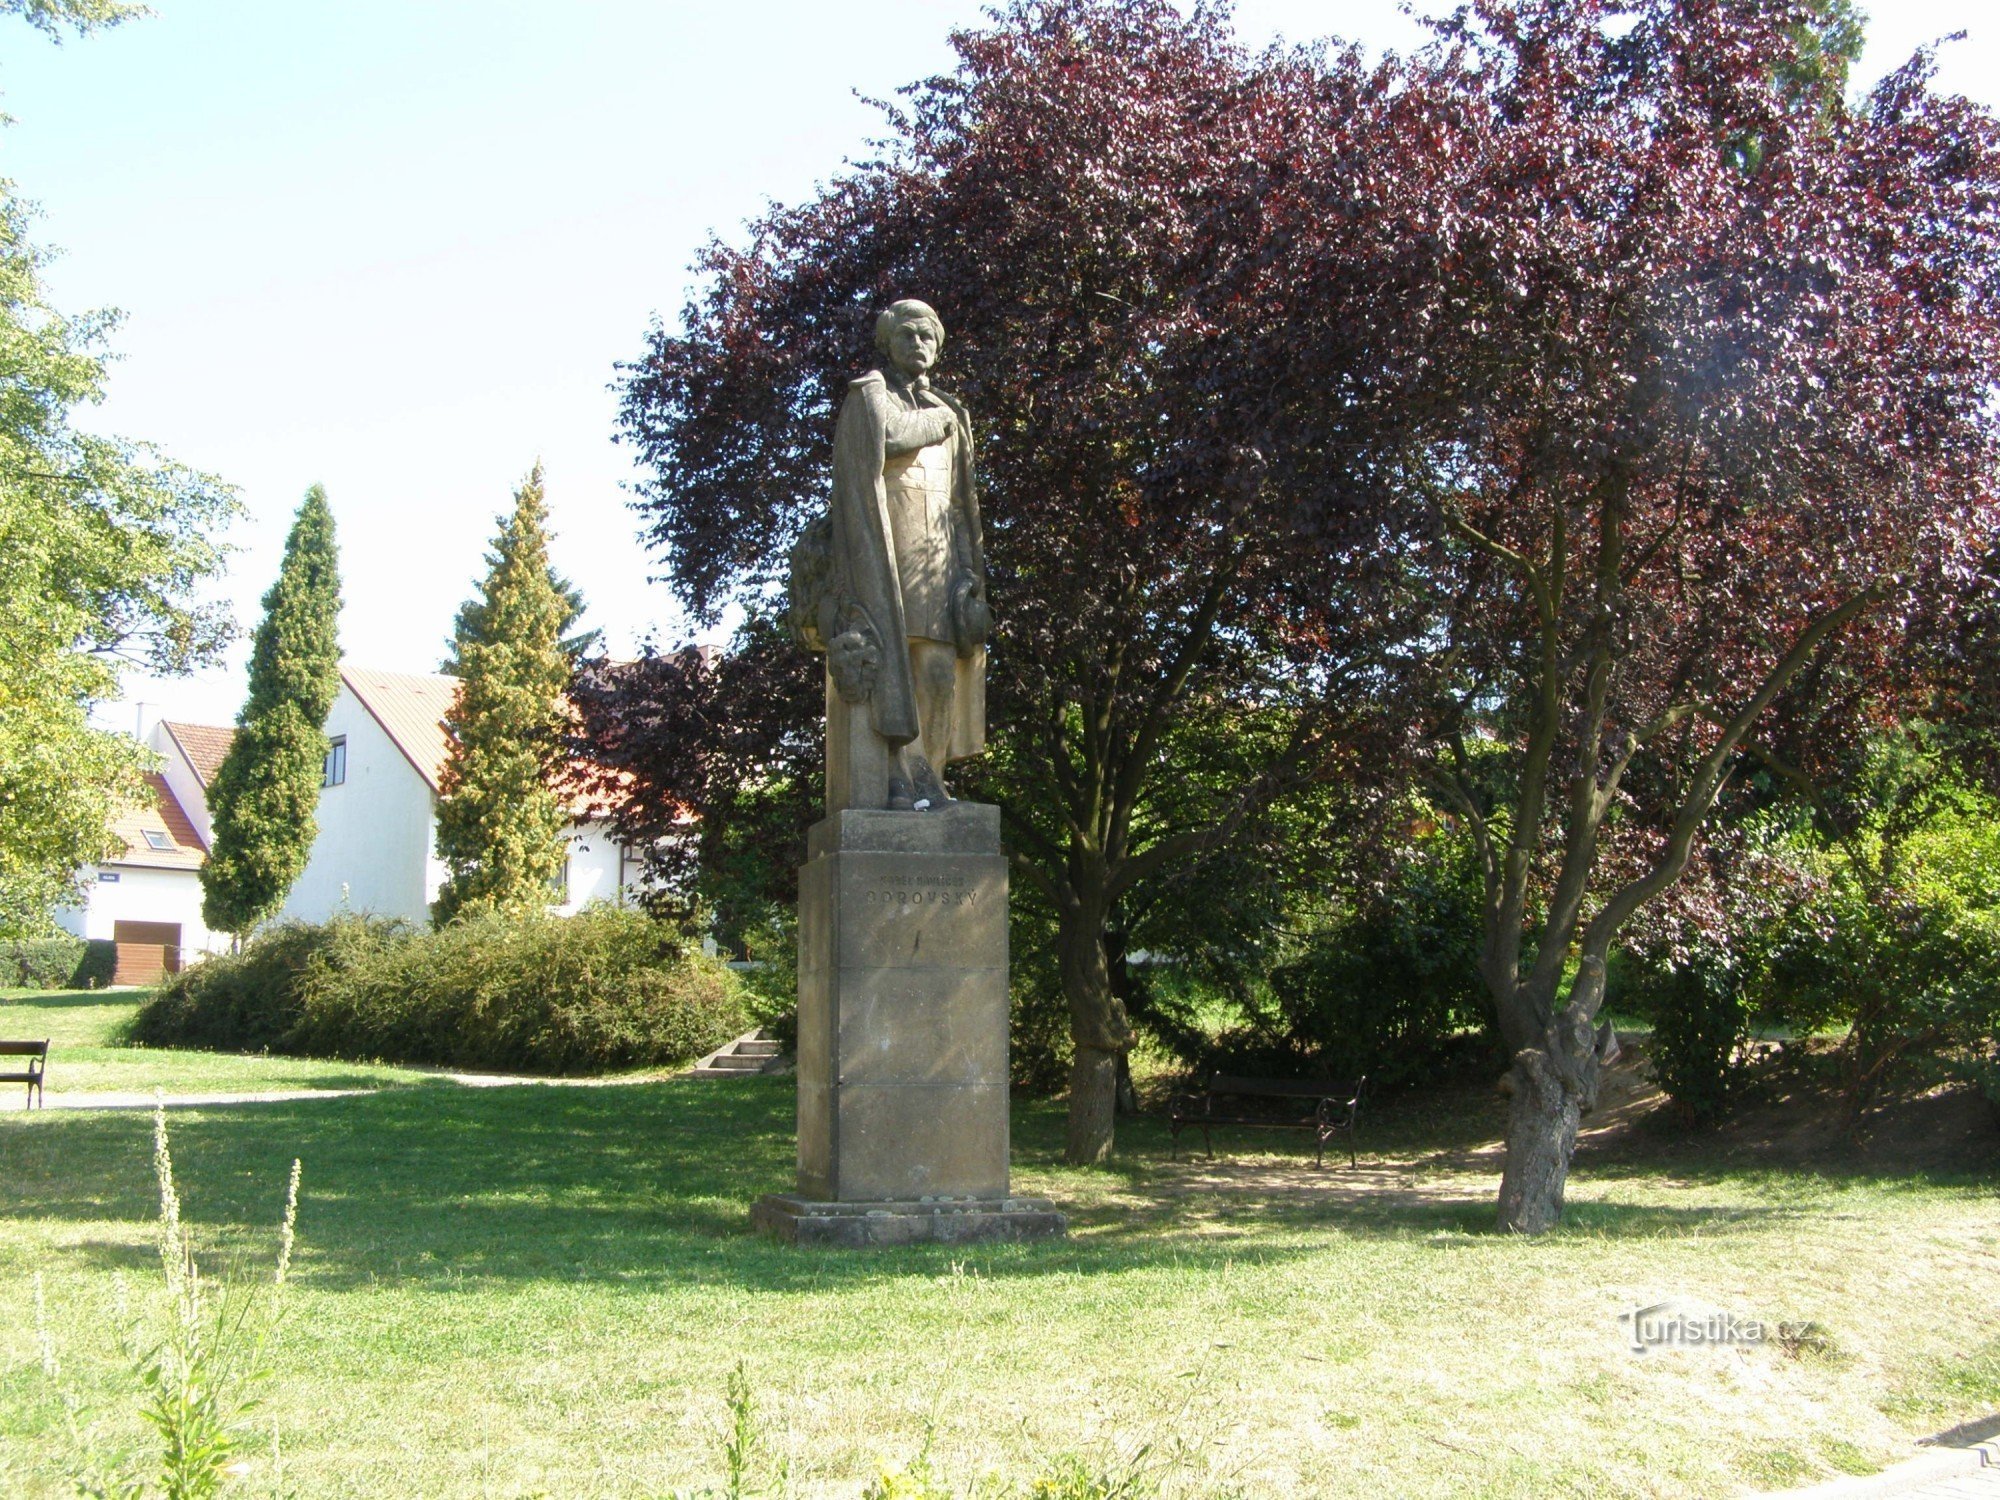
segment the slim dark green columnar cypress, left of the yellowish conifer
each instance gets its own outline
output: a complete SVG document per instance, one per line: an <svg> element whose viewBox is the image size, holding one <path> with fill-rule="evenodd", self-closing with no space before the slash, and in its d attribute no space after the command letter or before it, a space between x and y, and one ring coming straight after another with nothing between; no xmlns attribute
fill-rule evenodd
<svg viewBox="0 0 2000 1500"><path fill-rule="evenodd" d="M340 692L340 554L326 490L306 490L250 652L250 696L208 788L202 920L246 934L278 910L318 834L326 710Z"/></svg>

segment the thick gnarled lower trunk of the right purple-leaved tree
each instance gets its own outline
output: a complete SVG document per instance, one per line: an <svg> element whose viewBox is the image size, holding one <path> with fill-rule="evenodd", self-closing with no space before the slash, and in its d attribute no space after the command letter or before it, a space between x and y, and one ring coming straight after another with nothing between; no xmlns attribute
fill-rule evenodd
<svg viewBox="0 0 2000 1500"><path fill-rule="evenodd" d="M1594 996L1588 1004L1572 1000L1540 1042L1514 1054L1500 1176L1500 1228L1510 1234L1542 1234L1562 1222L1576 1126L1598 1102L1604 1064L1618 1056L1610 1022L1594 1032Z"/></svg>

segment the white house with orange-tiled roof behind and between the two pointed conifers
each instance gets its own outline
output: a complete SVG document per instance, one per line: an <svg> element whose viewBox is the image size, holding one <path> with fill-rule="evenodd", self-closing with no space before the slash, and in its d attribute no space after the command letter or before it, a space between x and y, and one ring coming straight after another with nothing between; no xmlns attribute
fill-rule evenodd
<svg viewBox="0 0 2000 1500"><path fill-rule="evenodd" d="M320 834L282 918L324 922L370 912L428 922L444 884L438 860L438 784L450 740L444 714L458 680L412 672L340 668L340 696L326 714L326 776ZM586 806L574 808L562 900L568 914L590 902L624 902L638 864Z"/></svg>

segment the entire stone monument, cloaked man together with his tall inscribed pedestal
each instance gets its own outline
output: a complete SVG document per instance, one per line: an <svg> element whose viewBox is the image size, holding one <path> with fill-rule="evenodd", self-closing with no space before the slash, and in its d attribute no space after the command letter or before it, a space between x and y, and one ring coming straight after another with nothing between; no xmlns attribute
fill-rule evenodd
<svg viewBox="0 0 2000 1500"><path fill-rule="evenodd" d="M930 386L936 312L896 302L876 344L792 550L792 634L826 656L826 816L798 868L798 1190L752 1222L816 1246L1062 1236L1010 1190L1000 808L942 778L986 748L972 426Z"/></svg>

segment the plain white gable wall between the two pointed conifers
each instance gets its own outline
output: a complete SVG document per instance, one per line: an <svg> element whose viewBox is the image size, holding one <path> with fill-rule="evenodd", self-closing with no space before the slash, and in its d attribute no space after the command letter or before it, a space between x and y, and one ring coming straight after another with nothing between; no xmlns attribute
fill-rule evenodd
<svg viewBox="0 0 2000 1500"><path fill-rule="evenodd" d="M348 738L348 780L320 788L320 834L280 918L324 922L350 910L430 922L444 878L432 856L430 784L346 684L326 734Z"/></svg>

